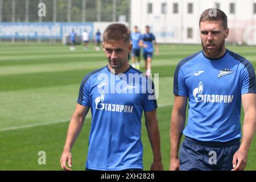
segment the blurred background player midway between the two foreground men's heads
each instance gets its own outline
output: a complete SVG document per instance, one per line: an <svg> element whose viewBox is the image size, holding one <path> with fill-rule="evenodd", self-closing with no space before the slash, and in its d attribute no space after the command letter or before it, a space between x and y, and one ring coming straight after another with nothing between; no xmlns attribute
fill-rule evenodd
<svg viewBox="0 0 256 182"><path fill-rule="evenodd" d="M143 57L145 60L146 75L148 76L151 73L151 62L154 52L153 44L155 45L156 55L159 54L158 44L156 43L154 34L150 32L149 26L146 26L146 34L142 35L139 44L143 47Z"/></svg>

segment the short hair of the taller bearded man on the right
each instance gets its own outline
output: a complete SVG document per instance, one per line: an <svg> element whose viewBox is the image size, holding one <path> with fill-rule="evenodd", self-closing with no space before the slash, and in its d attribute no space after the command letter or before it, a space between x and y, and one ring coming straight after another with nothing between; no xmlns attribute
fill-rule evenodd
<svg viewBox="0 0 256 182"><path fill-rule="evenodd" d="M218 20L222 21L222 26L226 30L226 28L228 28L228 18L223 11L215 8L204 10L204 12L200 16L199 27L201 22Z"/></svg>

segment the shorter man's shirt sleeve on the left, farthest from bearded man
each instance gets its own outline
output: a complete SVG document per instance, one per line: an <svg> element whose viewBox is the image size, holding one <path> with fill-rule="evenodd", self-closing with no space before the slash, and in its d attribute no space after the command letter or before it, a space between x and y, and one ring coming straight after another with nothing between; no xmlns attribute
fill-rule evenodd
<svg viewBox="0 0 256 182"><path fill-rule="evenodd" d="M90 106L90 80L89 78L85 77L82 80L79 89L79 97L77 99L77 103L82 106Z"/></svg>

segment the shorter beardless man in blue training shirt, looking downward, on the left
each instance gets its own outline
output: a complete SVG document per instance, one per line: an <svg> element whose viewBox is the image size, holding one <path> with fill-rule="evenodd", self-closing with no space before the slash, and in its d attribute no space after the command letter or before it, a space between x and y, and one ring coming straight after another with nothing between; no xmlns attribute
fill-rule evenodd
<svg viewBox="0 0 256 182"><path fill-rule="evenodd" d="M86 170L143 169L143 111L154 156L151 169L162 170L157 104L154 89L148 89L154 86L146 86L152 85L150 78L131 67L127 61L132 45L130 31L125 24L114 23L106 28L102 48L108 58L108 65L89 73L82 80L76 110L69 123L60 159L61 167L71 170L71 148L90 109L92 126ZM136 76L141 76L141 79L134 79Z"/></svg>

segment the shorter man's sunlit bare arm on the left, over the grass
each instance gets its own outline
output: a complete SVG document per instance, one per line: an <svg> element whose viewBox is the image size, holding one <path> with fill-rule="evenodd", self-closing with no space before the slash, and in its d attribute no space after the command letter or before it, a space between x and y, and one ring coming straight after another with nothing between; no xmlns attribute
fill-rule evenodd
<svg viewBox="0 0 256 182"><path fill-rule="evenodd" d="M70 168L66 166L66 162L68 162L68 166L72 166L72 155L71 148L75 143L81 129L84 124L84 119L89 111L89 106L82 106L80 104L76 104L75 112L69 122L67 138L64 146L63 153L60 158L61 168L71 171Z"/></svg>

